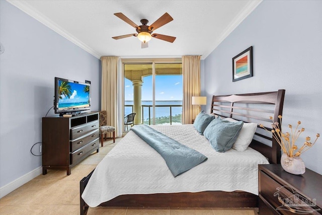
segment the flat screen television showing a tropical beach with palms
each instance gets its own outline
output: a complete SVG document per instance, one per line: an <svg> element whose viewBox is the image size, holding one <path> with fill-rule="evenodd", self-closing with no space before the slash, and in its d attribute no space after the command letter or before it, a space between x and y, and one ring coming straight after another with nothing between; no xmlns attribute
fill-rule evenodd
<svg viewBox="0 0 322 215"><path fill-rule="evenodd" d="M55 113L76 114L91 109L91 84L55 77Z"/></svg>

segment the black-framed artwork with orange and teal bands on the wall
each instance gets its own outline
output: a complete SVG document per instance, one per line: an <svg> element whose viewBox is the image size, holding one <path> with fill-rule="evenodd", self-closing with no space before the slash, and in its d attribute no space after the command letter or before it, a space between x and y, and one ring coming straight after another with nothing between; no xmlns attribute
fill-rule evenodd
<svg viewBox="0 0 322 215"><path fill-rule="evenodd" d="M253 46L232 58L232 81L253 76Z"/></svg>

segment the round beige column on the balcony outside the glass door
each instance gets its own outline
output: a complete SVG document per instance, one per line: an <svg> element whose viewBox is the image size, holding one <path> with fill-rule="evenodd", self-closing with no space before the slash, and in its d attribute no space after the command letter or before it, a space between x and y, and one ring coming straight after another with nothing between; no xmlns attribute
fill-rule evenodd
<svg viewBox="0 0 322 215"><path fill-rule="evenodd" d="M141 104L141 90L142 90L142 81L132 81L133 83L133 111L135 114L134 117L134 125L141 124L141 110L142 110L142 104Z"/></svg>

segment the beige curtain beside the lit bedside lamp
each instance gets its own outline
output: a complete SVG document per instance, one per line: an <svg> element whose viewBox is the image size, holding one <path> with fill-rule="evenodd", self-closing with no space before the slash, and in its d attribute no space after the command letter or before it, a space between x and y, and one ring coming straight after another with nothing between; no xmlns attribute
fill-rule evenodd
<svg viewBox="0 0 322 215"><path fill-rule="evenodd" d="M197 105L192 105L192 97L200 96L200 55L182 56L182 75L182 124L191 124L198 114Z"/></svg>

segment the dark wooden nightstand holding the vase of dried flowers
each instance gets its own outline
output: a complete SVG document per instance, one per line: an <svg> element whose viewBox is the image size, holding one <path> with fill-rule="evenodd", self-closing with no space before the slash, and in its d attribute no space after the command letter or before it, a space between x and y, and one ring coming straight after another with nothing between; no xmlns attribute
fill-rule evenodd
<svg viewBox="0 0 322 215"><path fill-rule="evenodd" d="M322 214L322 175L285 172L280 164L258 166L259 214ZM292 212L293 211L293 212Z"/></svg>

